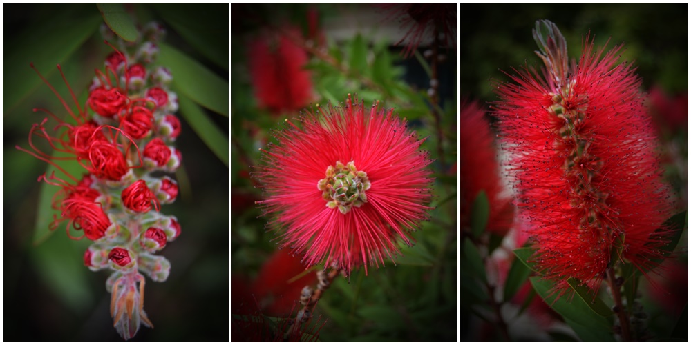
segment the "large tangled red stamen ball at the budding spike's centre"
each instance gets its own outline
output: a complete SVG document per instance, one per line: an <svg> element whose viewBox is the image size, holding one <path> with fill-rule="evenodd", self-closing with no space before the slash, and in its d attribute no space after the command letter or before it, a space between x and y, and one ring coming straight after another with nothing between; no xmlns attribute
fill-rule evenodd
<svg viewBox="0 0 691 345"><path fill-rule="evenodd" d="M91 166L86 167L97 178L120 181L127 173L127 161L122 152L108 141L94 141L88 150Z"/></svg>

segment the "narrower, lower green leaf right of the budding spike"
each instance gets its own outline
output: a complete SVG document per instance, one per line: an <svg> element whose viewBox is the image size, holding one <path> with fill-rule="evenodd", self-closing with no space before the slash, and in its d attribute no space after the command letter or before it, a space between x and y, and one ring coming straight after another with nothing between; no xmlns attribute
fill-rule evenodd
<svg viewBox="0 0 691 345"><path fill-rule="evenodd" d="M178 95L180 105L180 115L187 121L189 126L207 144L209 149L228 165L228 138L218 127L207 117L202 108L184 95Z"/></svg>

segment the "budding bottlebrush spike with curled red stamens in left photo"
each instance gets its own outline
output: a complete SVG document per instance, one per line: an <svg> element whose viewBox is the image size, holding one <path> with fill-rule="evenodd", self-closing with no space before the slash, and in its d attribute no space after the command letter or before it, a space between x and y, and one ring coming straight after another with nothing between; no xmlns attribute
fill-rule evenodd
<svg viewBox="0 0 691 345"><path fill-rule="evenodd" d="M161 204L175 201L178 195L178 185L164 174L176 172L182 160L173 147L180 121L173 115L178 103L169 90L171 72L155 65L155 43L164 29L150 23L135 43L117 39L106 26L102 33L106 43L116 40L118 48L108 43L114 51L104 70L96 70L86 104L80 106L70 88L77 108L73 111L39 73L71 119L35 109L57 121L55 134L46 130L46 118L30 131L31 150L17 148L66 176L61 179L53 172L39 177L59 186L53 197L57 215L50 229L66 221L70 238L93 241L84 253L84 265L93 271L113 271L106 283L112 293L113 324L124 339L130 339L140 324L152 326L143 309L145 279L140 272L154 282L166 280L170 262L155 253L180 235L176 217L159 213ZM53 154L41 149L36 138L47 141ZM79 179L70 175L59 164L65 159L77 161L86 170L84 175ZM83 235L75 236L79 230Z"/></svg>

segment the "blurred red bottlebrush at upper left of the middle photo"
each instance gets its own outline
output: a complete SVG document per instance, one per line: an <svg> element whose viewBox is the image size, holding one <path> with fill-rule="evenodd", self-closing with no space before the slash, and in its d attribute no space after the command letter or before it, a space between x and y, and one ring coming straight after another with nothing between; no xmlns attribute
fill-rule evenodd
<svg viewBox="0 0 691 345"><path fill-rule="evenodd" d="M280 36L263 35L249 47L249 72L259 106L274 114L296 112L312 99L312 79L305 70L307 52L287 35L298 37L295 28L281 29Z"/></svg>

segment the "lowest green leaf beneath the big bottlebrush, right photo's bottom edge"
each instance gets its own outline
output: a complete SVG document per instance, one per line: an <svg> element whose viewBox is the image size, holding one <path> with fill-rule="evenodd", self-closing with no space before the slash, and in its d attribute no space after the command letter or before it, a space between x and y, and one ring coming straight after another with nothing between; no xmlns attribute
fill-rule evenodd
<svg viewBox="0 0 691 345"><path fill-rule="evenodd" d="M595 313L581 298L558 297L552 288L554 283L541 277L531 277L536 293L554 311L562 315L578 337L584 342L614 342L612 324Z"/></svg>

